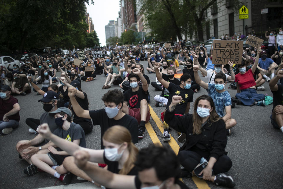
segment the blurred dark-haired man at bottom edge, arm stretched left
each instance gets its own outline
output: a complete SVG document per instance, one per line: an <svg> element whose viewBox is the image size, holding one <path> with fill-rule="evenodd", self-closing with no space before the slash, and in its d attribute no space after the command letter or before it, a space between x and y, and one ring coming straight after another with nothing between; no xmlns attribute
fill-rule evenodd
<svg viewBox="0 0 283 189"><path fill-rule="evenodd" d="M108 170L90 165L90 154L84 150L74 152L76 165L97 183L112 189L140 189L145 188L170 188L188 189L180 180L180 165L174 151L167 147L155 146L141 149L137 156L135 166L137 176L114 174ZM164 165L166 171L164 171ZM170 165L170 166L169 166Z"/></svg>

